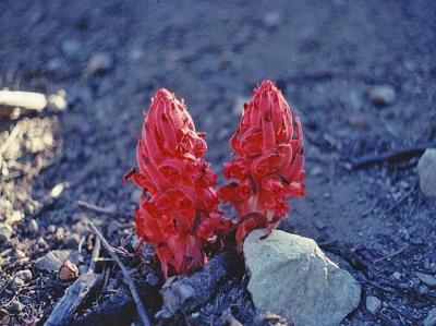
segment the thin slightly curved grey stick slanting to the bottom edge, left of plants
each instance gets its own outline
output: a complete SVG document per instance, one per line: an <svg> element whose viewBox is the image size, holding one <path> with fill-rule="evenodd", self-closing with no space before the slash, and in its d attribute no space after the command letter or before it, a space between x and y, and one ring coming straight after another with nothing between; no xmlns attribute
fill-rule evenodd
<svg viewBox="0 0 436 326"><path fill-rule="evenodd" d="M118 266L120 266L124 278L128 282L128 286L130 288L130 291L132 293L133 300L136 304L136 310L137 313L140 315L140 318L142 321L142 323L144 324L144 326L152 326L149 318L147 316L147 313L145 312L145 307L141 301L140 294L137 293L135 283L133 281L133 279L130 277L130 273L128 270L128 268L124 266L124 264L121 262L120 257L116 254L116 252L113 251L112 246L109 244L109 242L105 239L105 237L100 233L100 231L96 228L96 226L88 220L88 226L89 228L93 230L93 232L100 238L101 240L101 244L105 246L105 249L108 251L109 255L117 262Z"/></svg>

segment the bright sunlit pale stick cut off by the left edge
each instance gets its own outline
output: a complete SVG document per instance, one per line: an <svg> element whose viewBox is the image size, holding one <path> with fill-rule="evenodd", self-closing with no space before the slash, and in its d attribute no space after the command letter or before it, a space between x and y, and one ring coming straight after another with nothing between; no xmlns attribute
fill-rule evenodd
<svg viewBox="0 0 436 326"><path fill-rule="evenodd" d="M41 111L47 106L44 94L20 90L0 90L0 106L21 107Z"/></svg>

